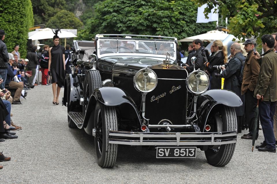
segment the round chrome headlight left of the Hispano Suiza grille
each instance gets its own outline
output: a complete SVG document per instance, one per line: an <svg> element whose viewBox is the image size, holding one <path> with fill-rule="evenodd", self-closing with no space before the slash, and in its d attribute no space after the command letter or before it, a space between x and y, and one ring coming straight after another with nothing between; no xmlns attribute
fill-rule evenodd
<svg viewBox="0 0 277 184"><path fill-rule="evenodd" d="M157 74L148 68L143 68L136 72L134 76L134 86L138 91L148 93L153 91L158 84Z"/></svg>

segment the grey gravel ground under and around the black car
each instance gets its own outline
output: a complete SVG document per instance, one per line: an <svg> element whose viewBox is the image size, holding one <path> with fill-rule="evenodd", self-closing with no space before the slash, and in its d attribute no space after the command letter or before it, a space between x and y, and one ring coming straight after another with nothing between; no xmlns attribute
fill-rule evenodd
<svg viewBox="0 0 277 184"><path fill-rule="evenodd" d="M0 183L276 183L277 154L251 152L251 140L240 139L231 162L225 167L207 164L204 152L196 158L156 159L156 151L134 151L119 146L116 166L97 165L93 137L70 129L67 112L52 104L52 88L28 90L22 105L12 105L17 139L0 142L9 162L1 162ZM263 141L262 132L256 141Z"/></svg>

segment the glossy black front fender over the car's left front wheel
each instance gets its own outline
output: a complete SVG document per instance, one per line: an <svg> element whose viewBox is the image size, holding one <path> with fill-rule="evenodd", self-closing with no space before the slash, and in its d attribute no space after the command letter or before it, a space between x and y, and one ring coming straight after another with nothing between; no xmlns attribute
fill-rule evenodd
<svg viewBox="0 0 277 184"><path fill-rule="evenodd" d="M87 111L84 118L84 129L89 135L92 135L92 129L94 128L93 121L96 102L98 102L102 106L115 107L117 108L117 113L122 115L126 114L124 113L124 111L130 111L131 109L132 114L135 116L135 118L138 119L141 124L141 118L139 115L139 111L136 108L136 104L127 92L116 87L101 87L95 89L93 91L93 94L89 98Z"/></svg>

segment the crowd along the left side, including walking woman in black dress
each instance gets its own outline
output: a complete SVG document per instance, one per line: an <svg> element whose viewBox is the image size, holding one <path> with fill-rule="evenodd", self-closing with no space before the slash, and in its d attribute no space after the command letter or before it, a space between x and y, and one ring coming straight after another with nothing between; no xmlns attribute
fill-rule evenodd
<svg viewBox="0 0 277 184"><path fill-rule="evenodd" d="M11 104L21 104L20 97L25 98L26 90L35 87L39 68L42 71L42 85L52 83L53 104L59 105L59 93L64 84L65 71L71 72L71 57L70 46L67 45L65 50L59 45L58 31L60 30L55 30L53 47L44 45L43 50L37 52L37 46L31 45L26 59L23 59L20 56L19 45L15 45L11 53L8 52L4 42L5 31L0 29L0 142L18 138L14 131L21 130L22 127L12 122ZM3 152L0 153L0 162L10 159L5 157ZM2 168L0 165L0 169Z"/></svg>

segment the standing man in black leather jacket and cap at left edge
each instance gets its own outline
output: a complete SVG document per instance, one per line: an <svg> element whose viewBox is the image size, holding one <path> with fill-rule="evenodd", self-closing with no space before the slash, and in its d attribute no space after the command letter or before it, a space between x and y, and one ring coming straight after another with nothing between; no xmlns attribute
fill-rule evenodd
<svg viewBox="0 0 277 184"><path fill-rule="evenodd" d="M6 44L4 43L5 31L0 29L0 76L3 82L0 84L0 89L5 88L5 81L7 78L7 68L9 66L9 55Z"/></svg>

